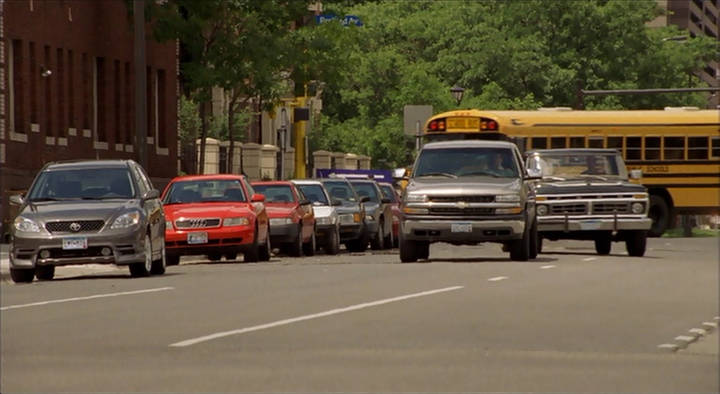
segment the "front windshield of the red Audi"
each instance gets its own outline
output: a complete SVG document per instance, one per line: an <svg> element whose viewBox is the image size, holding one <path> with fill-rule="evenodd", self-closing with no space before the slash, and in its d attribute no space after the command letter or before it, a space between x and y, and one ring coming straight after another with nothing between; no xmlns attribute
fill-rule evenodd
<svg viewBox="0 0 720 394"><path fill-rule="evenodd" d="M247 198L242 185L235 179L175 182L170 185L170 190L163 198L165 204L245 201Z"/></svg>

